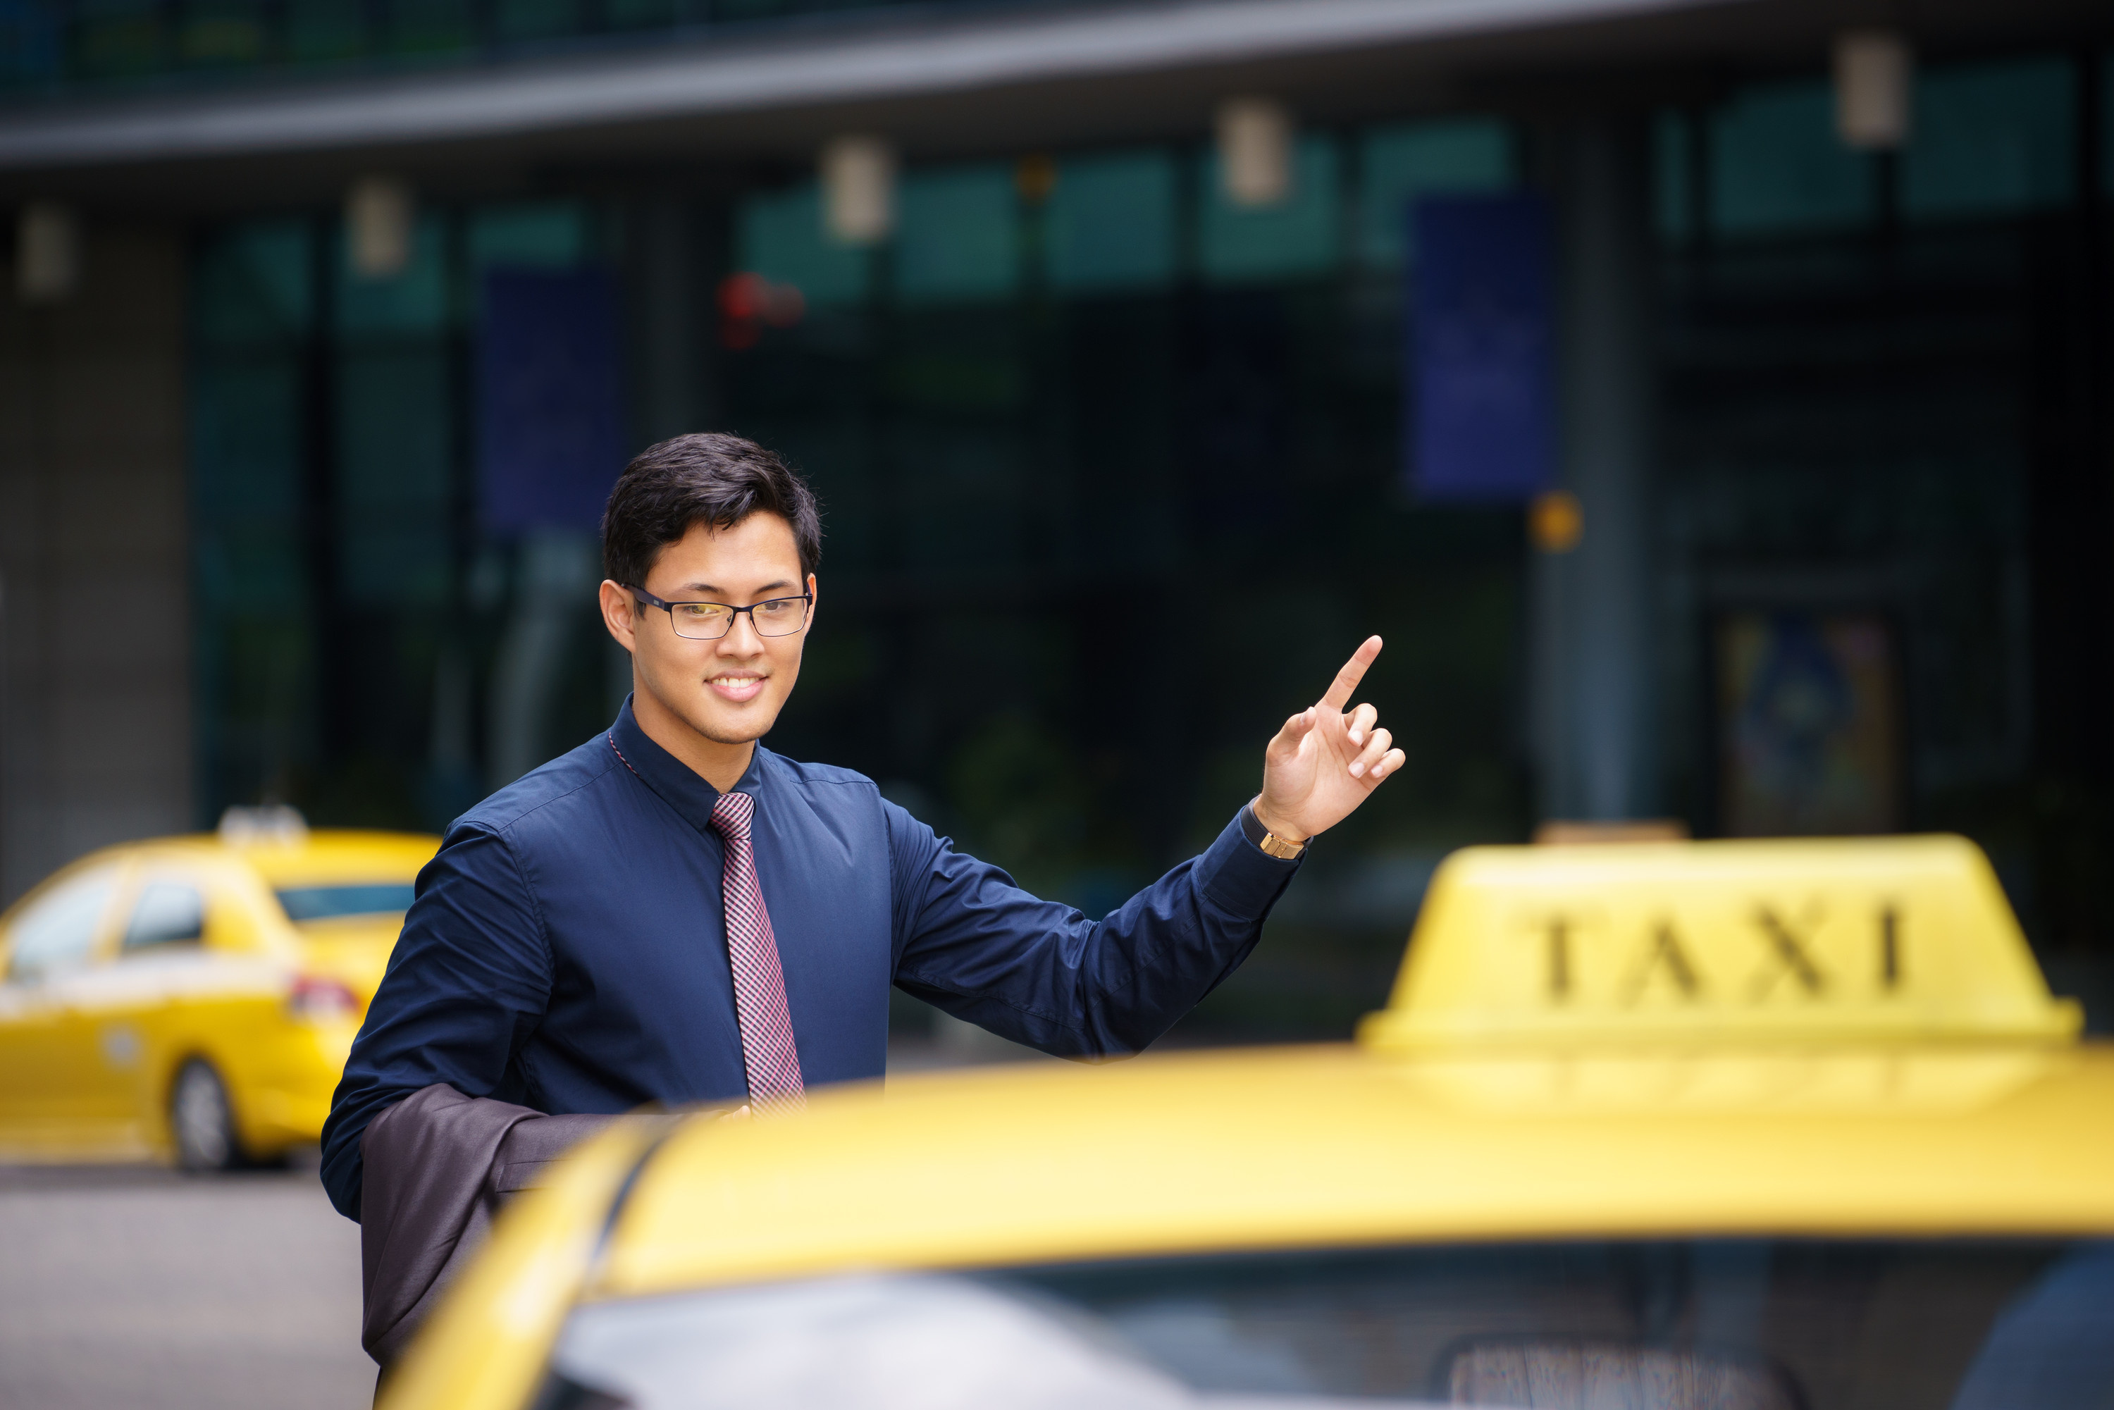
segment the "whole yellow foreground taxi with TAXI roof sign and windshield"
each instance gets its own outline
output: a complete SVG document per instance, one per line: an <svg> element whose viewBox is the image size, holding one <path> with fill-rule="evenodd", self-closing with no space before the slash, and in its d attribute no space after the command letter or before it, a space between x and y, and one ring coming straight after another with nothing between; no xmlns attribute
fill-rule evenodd
<svg viewBox="0 0 2114 1410"><path fill-rule="evenodd" d="M636 1118L385 1410L2114 1404L2114 1051L1955 837L1471 848L1349 1046Z"/></svg>

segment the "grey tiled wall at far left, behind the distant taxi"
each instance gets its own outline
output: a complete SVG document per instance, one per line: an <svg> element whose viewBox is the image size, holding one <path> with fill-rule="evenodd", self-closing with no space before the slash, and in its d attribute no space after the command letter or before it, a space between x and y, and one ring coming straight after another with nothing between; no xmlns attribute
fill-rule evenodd
<svg viewBox="0 0 2114 1410"><path fill-rule="evenodd" d="M0 287L0 905L188 831L184 243L89 226L80 285Z"/></svg>

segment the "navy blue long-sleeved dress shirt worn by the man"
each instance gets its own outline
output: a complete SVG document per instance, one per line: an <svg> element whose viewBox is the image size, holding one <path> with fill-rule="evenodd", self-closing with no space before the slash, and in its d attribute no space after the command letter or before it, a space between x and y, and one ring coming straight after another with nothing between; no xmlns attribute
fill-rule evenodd
<svg viewBox="0 0 2114 1410"><path fill-rule="evenodd" d="M1232 972L1298 869L1247 810L1106 920L1038 901L850 769L757 746L755 852L808 1087L877 1078L888 985L1063 1057L1144 1049ZM719 793L617 723L448 827L323 1125L359 1218L359 1137L448 1082L541 1112L744 1101Z"/></svg>

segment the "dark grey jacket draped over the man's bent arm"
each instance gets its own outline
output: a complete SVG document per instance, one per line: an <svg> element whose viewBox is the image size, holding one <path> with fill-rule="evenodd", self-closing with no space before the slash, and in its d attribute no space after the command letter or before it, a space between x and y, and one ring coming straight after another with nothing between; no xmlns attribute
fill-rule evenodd
<svg viewBox="0 0 2114 1410"><path fill-rule="evenodd" d="M421 1089L359 1139L359 1344L385 1370L484 1243L499 1205L537 1184L571 1146L622 1116L545 1116Z"/></svg>

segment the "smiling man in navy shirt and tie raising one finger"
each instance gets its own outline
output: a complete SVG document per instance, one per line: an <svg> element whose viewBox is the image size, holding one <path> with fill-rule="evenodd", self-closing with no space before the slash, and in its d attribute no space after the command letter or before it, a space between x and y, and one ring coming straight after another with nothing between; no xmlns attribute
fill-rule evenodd
<svg viewBox="0 0 2114 1410"><path fill-rule="evenodd" d="M615 723L448 829L323 1127L359 1218L359 1139L448 1082L541 1112L797 1108L877 1078L888 987L1065 1057L1144 1049L1232 972L1306 841L1402 767L1351 704L1368 638L1268 742L1203 856L1095 922L1038 901L879 795L761 740L816 619L814 495L734 435L645 450L602 518Z"/></svg>

